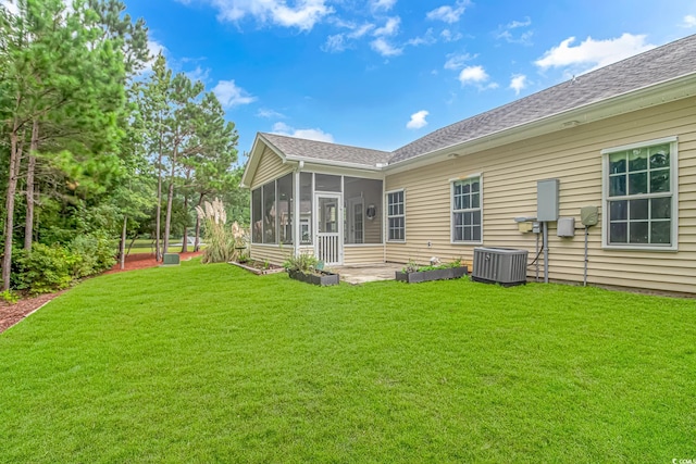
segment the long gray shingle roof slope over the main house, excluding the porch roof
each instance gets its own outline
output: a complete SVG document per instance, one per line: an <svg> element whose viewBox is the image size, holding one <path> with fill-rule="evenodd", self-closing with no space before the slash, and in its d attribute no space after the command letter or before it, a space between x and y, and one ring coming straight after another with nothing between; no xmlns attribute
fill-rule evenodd
<svg viewBox="0 0 696 464"><path fill-rule="evenodd" d="M393 152L389 163L696 72L696 35L601 67L537 93L443 127Z"/></svg>

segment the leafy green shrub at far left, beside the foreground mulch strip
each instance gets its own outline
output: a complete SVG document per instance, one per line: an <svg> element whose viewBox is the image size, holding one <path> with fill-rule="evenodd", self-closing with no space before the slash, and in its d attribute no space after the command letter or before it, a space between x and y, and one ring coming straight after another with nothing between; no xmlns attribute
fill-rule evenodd
<svg viewBox="0 0 696 464"><path fill-rule="evenodd" d="M12 280L17 290L49 293L62 290L73 281L73 271L82 258L61 247L34 243L30 251L17 250L12 256Z"/></svg>

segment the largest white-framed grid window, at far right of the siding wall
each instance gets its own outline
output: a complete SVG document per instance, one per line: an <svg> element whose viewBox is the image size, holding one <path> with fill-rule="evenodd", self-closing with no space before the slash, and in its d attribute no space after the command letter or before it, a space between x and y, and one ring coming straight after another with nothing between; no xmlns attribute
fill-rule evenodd
<svg viewBox="0 0 696 464"><path fill-rule="evenodd" d="M605 246L676 249L676 139L602 151Z"/></svg>

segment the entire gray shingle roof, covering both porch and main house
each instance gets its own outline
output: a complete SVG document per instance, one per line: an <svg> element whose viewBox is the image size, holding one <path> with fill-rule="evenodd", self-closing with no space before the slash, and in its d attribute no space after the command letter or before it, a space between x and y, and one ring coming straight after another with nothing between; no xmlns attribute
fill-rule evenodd
<svg viewBox="0 0 696 464"><path fill-rule="evenodd" d="M289 156L374 167L378 163L406 161L695 73L696 35L692 35L443 127L390 153L276 134L261 135Z"/></svg>

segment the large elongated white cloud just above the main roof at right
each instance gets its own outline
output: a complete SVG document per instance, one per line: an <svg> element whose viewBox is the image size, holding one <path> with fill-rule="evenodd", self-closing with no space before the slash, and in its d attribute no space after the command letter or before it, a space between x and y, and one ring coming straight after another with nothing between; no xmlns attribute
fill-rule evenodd
<svg viewBox="0 0 696 464"><path fill-rule="evenodd" d="M621 37L607 40L595 40L587 37L576 47L571 47L575 37L569 37L544 53L534 64L546 70L549 67L583 66L591 71L606 66L625 58L655 48L646 43L644 35L623 34Z"/></svg>

